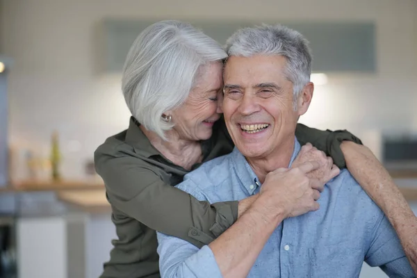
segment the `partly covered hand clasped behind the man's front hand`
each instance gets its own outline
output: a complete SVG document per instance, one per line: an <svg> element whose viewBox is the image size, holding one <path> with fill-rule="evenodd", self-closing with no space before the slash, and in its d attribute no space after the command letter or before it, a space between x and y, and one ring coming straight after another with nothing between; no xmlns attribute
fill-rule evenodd
<svg viewBox="0 0 417 278"><path fill-rule="evenodd" d="M329 180L340 173L339 168L333 164L332 158L327 157L325 152L319 151L310 143L306 143L306 145L301 147L300 153L295 158L292 167L297 167L306 161L319 161L321 163L321 167L307 173L307 177L320 181L320 183L318 183L319 187L316 188L320 192L322 192L325 184Z"/></svg>

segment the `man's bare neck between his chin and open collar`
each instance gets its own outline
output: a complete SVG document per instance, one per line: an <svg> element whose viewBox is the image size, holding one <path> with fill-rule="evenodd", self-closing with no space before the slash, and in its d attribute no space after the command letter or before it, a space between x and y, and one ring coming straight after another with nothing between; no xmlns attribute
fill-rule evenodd
<svg viewBox="0 0 417 278"><path fill-rule="evenodd" d="M269 172L278 168L287 168L291 162L295 147L295 138L291 137L282 142L277 149L263 158L246 158L254 170L256 177L263 183Z"/></svg>

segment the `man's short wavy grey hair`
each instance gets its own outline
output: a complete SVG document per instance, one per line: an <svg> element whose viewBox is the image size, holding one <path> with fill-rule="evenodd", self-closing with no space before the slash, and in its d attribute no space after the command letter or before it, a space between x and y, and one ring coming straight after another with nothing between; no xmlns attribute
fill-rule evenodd
<svg viewBox="0 0 417 278"><path fill-rule="evenodd" d="M281 55L287 60L286 79L293 83L294 105L310 81L311 51L302 34L282 25L256 26L236 31L226 42L229 56Z"/></svg>

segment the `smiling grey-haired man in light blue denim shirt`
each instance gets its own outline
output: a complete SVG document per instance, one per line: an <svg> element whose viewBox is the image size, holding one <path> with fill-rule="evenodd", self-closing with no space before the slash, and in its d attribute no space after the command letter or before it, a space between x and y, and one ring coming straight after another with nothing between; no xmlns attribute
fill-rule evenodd
<svg viewBox="0 0 417 278"><path fill-rule="evenodd" d="M313 97L311 54L300 33L284 26L244 28L229 38L227 52L222 110L236 148L178 186L209 202L262 196L268 173L295 167L295 126ZM238 221L201 250L159 233L161 275L358 277L366 261L390 277L414 277L393 227L347 170L326 184L318 203L318 211L297 217L266 204L258 208L263 222L231 236Z"/></svg>

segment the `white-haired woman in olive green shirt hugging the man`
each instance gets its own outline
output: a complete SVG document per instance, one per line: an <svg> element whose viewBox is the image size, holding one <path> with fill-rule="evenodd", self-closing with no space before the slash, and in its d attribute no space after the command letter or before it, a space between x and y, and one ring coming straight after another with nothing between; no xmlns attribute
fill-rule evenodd
<svg viewBox="0 0 417 278"><path fill-rule="evenodd" d="M129 128L95 152L118 237L101 277L160 277L155 230L202 247L252 204L250 198L208 204L174 188L184 174L234 147L218 110L224 58L215 40L177 21L149 26L133 43L122 77L132 114ZM319 131L301 124L296 136L332 156L338 167L347 165L389 217L409 258L416 260L417 231L411 229L416 217L375 156L356 144L360 140L347 131ZM319 151L310 149L297 159L322 159ZM319 172L327 177L311 172L311 179L327 182L337 174L332 164L322 163ZM365 165L367 172L362 171Z"/></svg>

